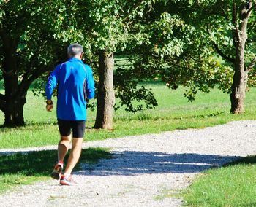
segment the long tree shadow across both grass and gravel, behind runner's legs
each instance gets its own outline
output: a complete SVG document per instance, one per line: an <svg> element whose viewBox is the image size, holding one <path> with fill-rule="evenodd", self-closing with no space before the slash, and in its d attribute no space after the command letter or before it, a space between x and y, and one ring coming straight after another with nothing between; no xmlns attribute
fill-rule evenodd
<svg viewBox="0 0 256 207"><path fill-rule="evenodd" d="M4 174L49 176L56 158L56 150L0 155L0 176ZM99 159L106 160L98 163ZM198 173L222 165L255 164L256 156L241 158L192 153L167 154L164 152L137 151L110 153L108 149L104 148L89 148L83 149L79 163L80 165L76 166L75 171L79 171L77 173L81 174L136 176L152 173Z"/></svg>

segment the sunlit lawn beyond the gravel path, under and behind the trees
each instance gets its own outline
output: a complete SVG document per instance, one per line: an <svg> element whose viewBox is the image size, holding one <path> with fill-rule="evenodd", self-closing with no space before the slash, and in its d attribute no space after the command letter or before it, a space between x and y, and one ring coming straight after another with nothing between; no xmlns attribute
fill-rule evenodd
<svg viewBox="0 0 256 207"><path fill-rule="evenodd" d="M246 94L246 113L230 114L229 96L217 89L211 93L198 93L195 102L189 103L183 97L184 87L170 90L165 85L149 84L154 91L159 106L144 112L133 114L119 109L115 112L114 130L94 130L96 112L88 112L86 123L86 141L138 135L144 133L160 133L166 130L204 128L206 126L224 124L233 120L253 120L256 117L256 90ZM55 101L56 103L56 101ZM59 130L56 125L56 109L45 111L42 97L27 95L24 109L26 127L0 128L0 148L37 147L56 144L59 141ZM4 115L0 114L0 125Z"/></svg>

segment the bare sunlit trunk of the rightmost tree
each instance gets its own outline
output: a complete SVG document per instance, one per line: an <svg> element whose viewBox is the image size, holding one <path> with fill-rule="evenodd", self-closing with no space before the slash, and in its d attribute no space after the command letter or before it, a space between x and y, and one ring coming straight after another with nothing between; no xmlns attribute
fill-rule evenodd
<svg viewBox="0 0 256 207"><path fill-rule="evenodd" d="M232 92L230 94L230 112L233 114L240 114L244 112L244 98L246 93L247 74L249 72L246 69L244 53L247 39L247 23L251 11L252 3L249 1L249 3L244 4L239 20L237 19L238 15L236 11L236 4L233 4L233 25L235 26L233 30L233 43L236 47L236 60L234 63L235 73L231 87Z"/></svg>

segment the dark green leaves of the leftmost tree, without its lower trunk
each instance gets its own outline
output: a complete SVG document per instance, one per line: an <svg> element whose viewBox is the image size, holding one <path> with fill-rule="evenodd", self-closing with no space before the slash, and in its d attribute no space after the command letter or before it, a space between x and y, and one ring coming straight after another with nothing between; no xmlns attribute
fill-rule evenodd
<svg viewBox="0 0 256 207"><path fill-rule="evenodd" d="M65 4L62 1L49 3L12 0L2 1L0 7L1 70L17 74L16 90L26 94L34 79L66 58L67 42L56 38L56 34L63 29L64 17L61 15ZM65 17L69 18L67 15ZM4 68L7 67L4 61L10 61L10 56L16 63L16 68L12 69L15 71ZM15 78L14 76L13 79ZM9 90L6 90L8 93Z"/></svg>

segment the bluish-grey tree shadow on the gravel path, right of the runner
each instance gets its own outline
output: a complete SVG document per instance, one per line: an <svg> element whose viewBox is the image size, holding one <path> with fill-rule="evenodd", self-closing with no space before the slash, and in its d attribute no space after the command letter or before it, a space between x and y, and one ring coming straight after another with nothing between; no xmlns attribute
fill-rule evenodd
<svg viewBox="0 0 256 207"><path fill-rule="evenodd" d="M241 158L194 153L167 154L164 152L137 151L112 152L111 155L112 159L94 165L93 171L90 171L90 165L83 165L84 170L80 173L96 176L199 173Z"/></svg>

